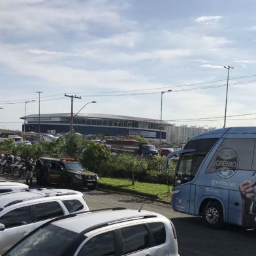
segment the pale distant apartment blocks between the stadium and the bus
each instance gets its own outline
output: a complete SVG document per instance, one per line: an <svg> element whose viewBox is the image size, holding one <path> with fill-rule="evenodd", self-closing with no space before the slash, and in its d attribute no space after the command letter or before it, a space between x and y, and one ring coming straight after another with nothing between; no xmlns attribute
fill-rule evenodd
<svg viewBox="0 0 256 256"><path fill-rule="evenodd" d="M187 125L171 125L167 127L167 142L184 143L190 136L200 135L200 133L205 133L206 131L211 131L216 129L216 127L197 127L197 126L187 126Z"/></svg>

